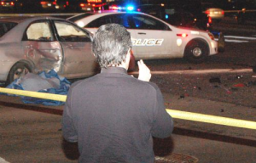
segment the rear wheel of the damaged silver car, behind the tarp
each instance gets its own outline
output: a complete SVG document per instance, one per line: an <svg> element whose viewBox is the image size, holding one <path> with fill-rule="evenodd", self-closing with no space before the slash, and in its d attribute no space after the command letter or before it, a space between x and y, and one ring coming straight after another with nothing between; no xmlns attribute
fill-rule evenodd
<svg viewBox="0 0 256 163"><path fill-rule="evenodd" d="M27 73L32 72L31 66L24 62L16 63L10 70L5 85L9 85L21 76L25 76Z"/></svg>

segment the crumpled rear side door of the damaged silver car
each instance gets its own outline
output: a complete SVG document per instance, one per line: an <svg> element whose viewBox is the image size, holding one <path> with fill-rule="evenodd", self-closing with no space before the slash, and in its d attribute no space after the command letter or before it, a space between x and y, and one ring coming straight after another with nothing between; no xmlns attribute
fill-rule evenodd
<svg viewBox="0 0 256 163"><path fill-rule="evenodd" d="M60 70L62 48L55 41L49 20L36 21L28 26L22 39L22 49L35 66L35 71Z"/></svg>

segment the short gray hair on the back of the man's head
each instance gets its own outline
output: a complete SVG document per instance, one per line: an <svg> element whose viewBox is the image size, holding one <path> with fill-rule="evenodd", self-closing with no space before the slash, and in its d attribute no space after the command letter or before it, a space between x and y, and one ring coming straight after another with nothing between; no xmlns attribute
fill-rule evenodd
<svg viewBox="0 0 256 163"><path fill-rule="evenodd" d="M92 41L92 52L99 65L104 68L120 65L125 61L131 48L131 34L123 25L102 25L96 31Z"/></svg>

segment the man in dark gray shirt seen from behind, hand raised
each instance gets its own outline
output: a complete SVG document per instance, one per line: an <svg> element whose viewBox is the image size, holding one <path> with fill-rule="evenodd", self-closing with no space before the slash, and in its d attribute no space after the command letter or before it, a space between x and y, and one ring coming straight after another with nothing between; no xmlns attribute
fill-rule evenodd
<svg viewBox="0 0 256 163"><path fill-rule="evenodd" d="M63 137L79 143L79 162L154 162L152 137L169 137L173 122L143 60L138 79L127 74L130 33L122 25L102 25L92 49L102 70L70 88Z"/></svg>

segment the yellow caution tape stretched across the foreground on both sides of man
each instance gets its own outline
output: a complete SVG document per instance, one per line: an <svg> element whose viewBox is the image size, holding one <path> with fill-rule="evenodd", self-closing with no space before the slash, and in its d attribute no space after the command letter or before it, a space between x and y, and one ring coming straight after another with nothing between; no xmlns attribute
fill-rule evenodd
<svg viewBox="0 0 256 163"><path fill-rule="evenodd" d="M0 92L17 94L17 95L28 96L33 98L51 99L51 100L62 101L62 102L65 102L67 99L66 95L52 94L52 93L38 93L38 92L9 89L9 88L3 88L3 87L0 87ZM212 124L224 125L224 126L236 126L236 127L256 130L256 122L254 121L237 120L233 118L226 118L226 117L215 116L215 115L203 115L199 113L192 113L192 112L179 111L179 110L166 109L166 111L169 115L172 115L173 118L177 118L177 119L189 120L189 121L200 121L200 122L212 123Z"/></svg>

